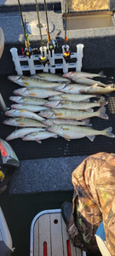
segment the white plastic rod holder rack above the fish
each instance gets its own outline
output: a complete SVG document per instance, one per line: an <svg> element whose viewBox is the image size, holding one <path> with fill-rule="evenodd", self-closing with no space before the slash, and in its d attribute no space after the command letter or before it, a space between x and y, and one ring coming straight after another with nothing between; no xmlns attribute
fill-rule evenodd
<svg viewBox="0 0 115 256"><path fill-rule="evenodd" d="M69 46L68 46L69 47ZM68 48L69 49L69 48ZM42 50L44 51L45 55L47 56L47 48L45 46L40 47L40 51L42 54ZM77 52L71 53L72 58L76 58L76 62L67 62L63 57L64 45L62 46L62 53L55 54L55 50L52 50L52 56L50 55L49 51L49 64L35 64L36 61L40 58L41 55L31 55L29 58L28 56L24 57L23 55L18 55L18 49L11 48L10 52L12 55L12 59L14 61L15 71L18 75L22 75L24 71L30 71L31 75L36 73L37 70L43 72L50 72L55 73L57 69L61 69L62 73L67 73L69 68L74 68L76 71L80 72L82 67L83 61L83 44L77 44ZM60 60L58 64L55 64L55 60ZM20 65L20 61L28 61L28 65ZM35 62L34 62L35 61Z"/></svg>

